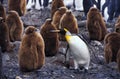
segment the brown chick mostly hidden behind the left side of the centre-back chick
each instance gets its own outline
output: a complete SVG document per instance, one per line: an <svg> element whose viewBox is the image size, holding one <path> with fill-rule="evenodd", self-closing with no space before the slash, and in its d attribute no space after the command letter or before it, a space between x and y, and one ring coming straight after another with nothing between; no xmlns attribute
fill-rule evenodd
<svg viewBox="0 0 120 79"><path fill-rule="evenodd" d="M60 7L55 14L53 15L52 23L55 25L57 29L59 29L60 19L64 13L66 13L68 9L66 7Z"/></svg>

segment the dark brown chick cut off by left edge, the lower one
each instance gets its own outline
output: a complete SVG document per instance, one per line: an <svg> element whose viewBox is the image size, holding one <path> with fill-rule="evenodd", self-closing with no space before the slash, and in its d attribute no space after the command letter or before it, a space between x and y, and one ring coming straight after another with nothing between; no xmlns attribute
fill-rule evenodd
<svg viewBox="0 0 120 79"><path fill-rule="evenodd" d="M2 52L9 52L14 48L14 46L10 44L9 29L3 17L0 17L0 46Z"/></svg>

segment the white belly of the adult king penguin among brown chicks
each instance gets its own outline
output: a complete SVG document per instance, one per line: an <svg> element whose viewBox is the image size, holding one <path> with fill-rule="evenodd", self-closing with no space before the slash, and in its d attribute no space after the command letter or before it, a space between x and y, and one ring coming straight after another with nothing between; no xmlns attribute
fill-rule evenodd
<svg viewBox="0 0 120 79"><path fill-rule="evenodd" d="M87 45L78 36L72 36L68 43L73 59L79 65L86 66L86 69L88 69L90 55Z"/></svg>

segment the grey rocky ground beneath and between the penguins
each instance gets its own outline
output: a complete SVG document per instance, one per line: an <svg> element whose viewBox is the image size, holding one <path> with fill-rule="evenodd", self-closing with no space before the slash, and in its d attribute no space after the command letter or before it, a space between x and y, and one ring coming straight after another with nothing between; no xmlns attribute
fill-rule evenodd
<svg viewBox="0 0 120 79"><path fill-rule="evenodd" d="M7 9L7 1L4 0L4 6ZM73 11L78 19L78 23L81 23L80 16L81 12ZM36 25L37 28L45 22L47 18L50 18L50 6L43 10L37 11L32 9L27 12L25 16L21 17L24 24L26 25ZM108 30L111 31L114 28L109 27ZM88 36L88 32L85 26L80 26L79 29L81 34ZM14 44L16 47L13 52L2 53L3 58L3 73L8 77L8 79L120 79L120 73L117 71L117 64L110 63L106 64L104 59L104 44L103 42L90 41L88 43L91 62L87 73L76 73L74 70L68 69L64 66L64 55L59 53L53 57L46 57L45 65L33 72L23 73L19 70L18 64L18 49L21 41L16 41ZM62 52L61 48L59 50Z"/></svg>

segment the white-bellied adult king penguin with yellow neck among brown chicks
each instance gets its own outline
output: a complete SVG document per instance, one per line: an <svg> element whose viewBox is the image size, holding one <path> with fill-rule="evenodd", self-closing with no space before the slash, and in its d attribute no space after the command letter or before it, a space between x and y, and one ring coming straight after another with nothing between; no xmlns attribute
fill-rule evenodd
<svg viewBox="0 0 120 79"><path fill-rule="evenodd" d="M86 43L79 38L77 35L72 35L67 29L51 30L51 32L58 32L65 35L65 39L69 45L68 51L66 52L66 61L69 61L70 55L74 60L74 69L79 68L87 71L90 64L90 53Z"/></svg>

